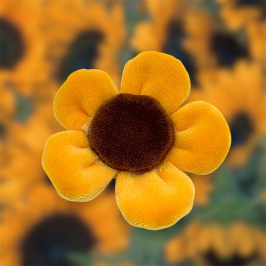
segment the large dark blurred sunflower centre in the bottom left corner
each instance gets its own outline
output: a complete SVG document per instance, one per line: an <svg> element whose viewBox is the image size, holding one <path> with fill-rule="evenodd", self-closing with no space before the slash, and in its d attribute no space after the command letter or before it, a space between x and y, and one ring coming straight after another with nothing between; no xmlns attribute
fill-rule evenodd
<svg viewBox="0 0 266 266"><path fill-rule="evenodd" d="M23 240L22 265L73 265L67 256L71 252L85 253L94 244L92 233L78 218L55 215L35 225Z"/></svg>

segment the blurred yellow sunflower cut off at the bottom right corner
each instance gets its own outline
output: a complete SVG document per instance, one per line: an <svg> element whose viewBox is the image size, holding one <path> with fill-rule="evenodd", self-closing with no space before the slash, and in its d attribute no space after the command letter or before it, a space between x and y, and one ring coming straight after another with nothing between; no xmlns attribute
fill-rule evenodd
<svg viewBox="0 0 266 266"><path fill-rule="evenodd" d="M266 235L240 221L230 226L194 221L165 244L164 255L171 264L265 265Z"/></svg>

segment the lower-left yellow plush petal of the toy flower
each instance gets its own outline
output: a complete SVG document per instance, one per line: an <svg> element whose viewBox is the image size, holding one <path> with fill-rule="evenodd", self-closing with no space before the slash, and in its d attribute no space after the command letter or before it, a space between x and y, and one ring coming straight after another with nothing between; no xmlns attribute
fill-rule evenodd
<svg viewBox="0 0 266 266"><path fill-rule="evenodd" d="M42 167L59 195L70 201L94 199L116 173L92 153L87 136L73 130L56 133L47 140Z"/></svg>

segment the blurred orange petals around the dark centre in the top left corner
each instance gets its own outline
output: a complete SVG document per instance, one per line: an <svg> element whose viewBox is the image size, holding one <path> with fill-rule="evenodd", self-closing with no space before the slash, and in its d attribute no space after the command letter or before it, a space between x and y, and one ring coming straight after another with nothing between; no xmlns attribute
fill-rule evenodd
<svg viewBox="0 0 266 266"><path fill-rule="evenodd" d="M21 43L17 45L22 48L21 56L11 68L1 66L1 79L27 96L36 84L45 80L49 67L41 38L42 4L41 0L1 0L0 17L19 32Z"/></svg>

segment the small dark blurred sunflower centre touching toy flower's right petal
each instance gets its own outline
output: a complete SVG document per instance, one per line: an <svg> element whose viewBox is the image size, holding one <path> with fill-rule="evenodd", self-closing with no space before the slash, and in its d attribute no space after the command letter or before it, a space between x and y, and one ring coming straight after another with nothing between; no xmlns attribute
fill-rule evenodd
<svg viewBox="0 0 266 266"><path fill-rule="evenodd" d="M235 116L230 125L232 135L231 147L241 145L251 136L253 124L250 117L245 113L239 113Z"/></svg>

